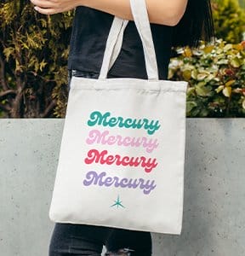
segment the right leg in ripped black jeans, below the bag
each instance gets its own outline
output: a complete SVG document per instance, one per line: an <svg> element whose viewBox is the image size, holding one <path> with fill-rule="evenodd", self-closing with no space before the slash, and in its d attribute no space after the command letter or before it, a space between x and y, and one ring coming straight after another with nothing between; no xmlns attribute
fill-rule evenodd
<svg viewBox="0 0 245 256"><path fill-rule="evenodd" d="M151 256L151 233L114 229L105 245L109 252L117 252L116 255L120 255L122 248L128 248L134 250L132 253L129 250L130 256ZM127 253L121 255L127 255Z"/></svg>

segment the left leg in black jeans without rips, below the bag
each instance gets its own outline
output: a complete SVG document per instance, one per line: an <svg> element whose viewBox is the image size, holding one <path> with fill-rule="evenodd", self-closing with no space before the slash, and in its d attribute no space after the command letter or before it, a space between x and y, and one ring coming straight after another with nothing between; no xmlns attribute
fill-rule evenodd
<svg viewBox="0 0 245 256"><path fill-rule="evenodd" d="M56 223L49 256L100 256L111 229L83 224Z"/></svg>

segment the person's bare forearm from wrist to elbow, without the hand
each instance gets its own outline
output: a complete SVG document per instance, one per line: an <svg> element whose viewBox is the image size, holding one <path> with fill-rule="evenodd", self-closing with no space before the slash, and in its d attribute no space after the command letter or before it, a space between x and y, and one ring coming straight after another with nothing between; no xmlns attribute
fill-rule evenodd
<svg viewBox="0 0 245 256"><path fill-rule="evenodd" d="M146 0L151 23L175 26L185 13L187 0ZM81 0L79 5L133 20L129 0Z"/></svg>

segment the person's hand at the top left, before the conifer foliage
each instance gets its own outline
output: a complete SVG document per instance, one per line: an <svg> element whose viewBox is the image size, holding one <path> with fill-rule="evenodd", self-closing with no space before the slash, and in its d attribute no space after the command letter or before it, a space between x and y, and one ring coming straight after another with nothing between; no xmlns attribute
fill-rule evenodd
<svg viewBox="0 0 245 256"><path fill-rule="evenodd" d="M81 0L31 0L34 9L43 15L54 15L76 8Z"/></svg>

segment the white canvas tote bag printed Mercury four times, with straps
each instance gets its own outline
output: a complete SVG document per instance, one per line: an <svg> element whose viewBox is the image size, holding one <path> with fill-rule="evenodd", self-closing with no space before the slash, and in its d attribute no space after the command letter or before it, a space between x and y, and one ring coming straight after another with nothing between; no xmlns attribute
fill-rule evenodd
<svg viewBox="0 0 245 256"><path fill-rule="evenodd" d="M148 79L106 79L127 20L113 20L99 79L73 77L49 218L180 234L187 83L158 79L145 0L131 0Z"/></svg>

